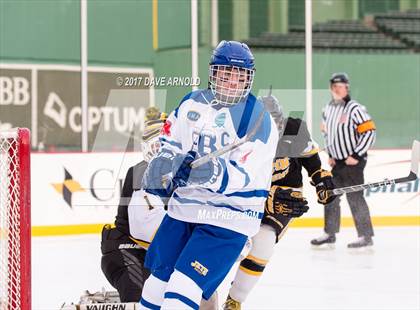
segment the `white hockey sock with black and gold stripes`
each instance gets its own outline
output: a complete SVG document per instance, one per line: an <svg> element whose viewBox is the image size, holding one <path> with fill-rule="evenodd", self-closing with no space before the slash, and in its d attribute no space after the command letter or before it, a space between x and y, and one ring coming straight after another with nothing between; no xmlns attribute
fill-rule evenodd
<svg viewBox="0 0 420 310"><path fill-rule="evenodd" d="M252 248L236 273L229 295L234 300L244 302L262 275L268 260L274 252L276 233L271 226L261 225L260 231L252 238ZM246 263L246 264L245 264Z"/></svg>

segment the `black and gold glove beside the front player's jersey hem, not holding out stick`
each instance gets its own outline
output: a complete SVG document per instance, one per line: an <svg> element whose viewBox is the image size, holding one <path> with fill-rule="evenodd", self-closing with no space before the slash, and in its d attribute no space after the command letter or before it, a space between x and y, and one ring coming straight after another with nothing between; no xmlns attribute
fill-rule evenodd
<svg viewBox="0 0 420 310"><path fill-rule="evenodd" d="M281 186L271 187L265 208L268 214L285 217L299 217L309 209L301 192Z"/></svg>

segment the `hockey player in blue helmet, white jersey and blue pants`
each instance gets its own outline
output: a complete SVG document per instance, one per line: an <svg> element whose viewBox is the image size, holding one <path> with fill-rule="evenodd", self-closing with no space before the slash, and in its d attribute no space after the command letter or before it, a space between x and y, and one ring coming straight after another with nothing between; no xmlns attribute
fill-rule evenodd
<svg viewBox="0 0 420 310"><path fill-rule="evenodd" d="M143 178L147 192L173 193L146 254L152 275L141 309L198 309L260 227L278 131L250 93L255 69L247 45L222 41L209 69L209 89L188 94L170 114ZM197 157L250 133L236 149L191 168ZM164 186L162 175L170 177Z"/></svg>

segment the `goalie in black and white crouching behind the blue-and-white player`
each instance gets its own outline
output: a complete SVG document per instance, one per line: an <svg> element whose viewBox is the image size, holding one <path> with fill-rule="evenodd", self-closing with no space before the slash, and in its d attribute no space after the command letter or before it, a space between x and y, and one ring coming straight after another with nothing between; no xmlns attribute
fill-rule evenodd
<svg viewBox="0 0 420 310"><path fill-rule="evenodd" d="M105 225L102 230L101 268L109 283L117 289L121 302L140 300L144 282L150 274L144 267L146 250L166 214L166 201L141 189L144 171L160 149L159 133L166 118L166 114L156 108L147 110L141 144L144 160L128 169L115 224L113 227ZM103 293L94 295L97 298L104 296ZM217 309L217 302L215 293L208 301L201 301L200 310Z"/></svg>

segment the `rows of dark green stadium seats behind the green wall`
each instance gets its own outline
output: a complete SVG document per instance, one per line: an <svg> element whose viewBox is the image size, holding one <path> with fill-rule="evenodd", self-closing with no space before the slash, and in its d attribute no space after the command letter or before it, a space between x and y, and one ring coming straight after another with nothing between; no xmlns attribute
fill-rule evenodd
<svg viewBox="0 0 420 310"><path fill-rule="evenodd" d="M263 33L250 38L252 48L301 50L303 26L291 26L288 34ZM328 21L313 26L313 48L334 51L412 52L420 48L420 10L378 14L374 22Z"/></svg>

